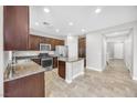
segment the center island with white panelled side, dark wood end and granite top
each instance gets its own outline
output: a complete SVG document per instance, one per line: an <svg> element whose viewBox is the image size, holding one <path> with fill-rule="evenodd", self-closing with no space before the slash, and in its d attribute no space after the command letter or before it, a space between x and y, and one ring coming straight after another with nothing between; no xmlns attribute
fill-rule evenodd
<svg viewBox="0 0 137 103"><path fill-rule="evenodd" d="M78 75L84 74L84 59L59 58L59 75L71 83Z"/></svg>

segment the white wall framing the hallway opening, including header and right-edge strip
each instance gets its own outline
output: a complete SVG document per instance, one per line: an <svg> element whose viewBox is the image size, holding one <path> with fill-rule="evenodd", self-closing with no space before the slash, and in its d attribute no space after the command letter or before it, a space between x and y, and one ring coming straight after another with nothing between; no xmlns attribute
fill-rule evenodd
<svg viewBox="0 0 137 103"><path fill-rule="evenodd" d="M86 34L86 64L87 69L102 71L102 38L101 34L116 32L120 30L134 29L133 56L133 79L137 80L137 21L109 27L103 30L93 31Z"/></svg>

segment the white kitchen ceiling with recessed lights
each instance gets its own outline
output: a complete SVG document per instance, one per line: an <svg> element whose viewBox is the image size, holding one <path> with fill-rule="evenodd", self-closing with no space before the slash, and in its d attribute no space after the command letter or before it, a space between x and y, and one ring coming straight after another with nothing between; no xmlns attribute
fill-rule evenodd
<svg viewBox="0 0 137 103"><path fill-rule="evenodd" d="M44 8L50 12L45 13ZM97 8L101 13L95 13ZM137 7L131 6L33 6L30 7L30 28L53 35L81 35L89 31L105 29L137 20ZM35 24L39 22L39 25ZM50 25L44 25L48 22ZM73 22L73 25L68 25ZM56 32L55 30L60 31ZM85 32L82 32L85 29Z"/></svg>

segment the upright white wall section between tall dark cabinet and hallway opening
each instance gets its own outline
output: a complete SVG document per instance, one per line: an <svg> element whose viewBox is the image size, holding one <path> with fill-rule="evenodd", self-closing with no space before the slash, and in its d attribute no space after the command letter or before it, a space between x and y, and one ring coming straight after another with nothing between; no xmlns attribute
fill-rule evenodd
<svg viewBox="0 0 137 103"><path fill-rule="evenodd" d="M86 68L102 71L102 43L103 35L89 33L86 35Z"/></svg>

